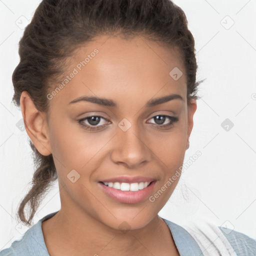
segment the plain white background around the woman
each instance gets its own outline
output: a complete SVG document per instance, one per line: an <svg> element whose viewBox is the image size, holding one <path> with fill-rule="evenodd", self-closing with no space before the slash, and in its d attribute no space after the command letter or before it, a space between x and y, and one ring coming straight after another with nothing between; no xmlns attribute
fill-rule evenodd
<svg viewBox="0 0 256 256"><path fill-rule="evenodd" d="M0 0L0 250L27 229L15 213L28 191L33 161L28 136L16 126L22 115L11 104L11 75L23 25L39 2ZM202 154L184 169L159 215L179 224L207 219L256 238L256 0L174 3L184 10L195 39L197 80L206 78L184 163L197 150ZM59 208L56 183L33 223Z"/></svg>

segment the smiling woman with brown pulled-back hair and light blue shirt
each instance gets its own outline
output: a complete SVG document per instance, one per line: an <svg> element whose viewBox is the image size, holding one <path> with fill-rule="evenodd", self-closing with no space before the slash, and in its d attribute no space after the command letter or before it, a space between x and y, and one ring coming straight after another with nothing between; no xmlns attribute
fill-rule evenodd
<svg viewBox="0 0 256 256"><path fill-rule="evenodd" d="M178 6L43 0L19 55L13 101L37 166L18 216L30 225L56 179L61 208L1 256L256 253L245 234L158 216L181 174L199 84Z"/></svg>

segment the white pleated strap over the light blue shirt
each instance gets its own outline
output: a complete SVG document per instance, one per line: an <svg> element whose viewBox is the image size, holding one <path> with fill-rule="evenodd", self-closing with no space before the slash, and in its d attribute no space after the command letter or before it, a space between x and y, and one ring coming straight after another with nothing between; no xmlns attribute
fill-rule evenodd
<svg viewBox="0 0 256 256"><path fill-rule="evenodd" d="M203 253L200 256L237 256L224 234L216 225L208 221L189 221L183 224L182 227L198 243Z"/></svg>

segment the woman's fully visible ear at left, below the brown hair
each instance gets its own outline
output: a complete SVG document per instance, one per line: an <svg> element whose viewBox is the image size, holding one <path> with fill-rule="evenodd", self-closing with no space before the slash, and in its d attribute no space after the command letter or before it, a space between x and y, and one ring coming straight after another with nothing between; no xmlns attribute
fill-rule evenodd
<svg viewBox="0 0 256 256"><path fill-rule="evenodd" d="M42 155L51 154L46 114L39 112L27 91L22 91L20 107L25 129L36 149Z"/></svg>

